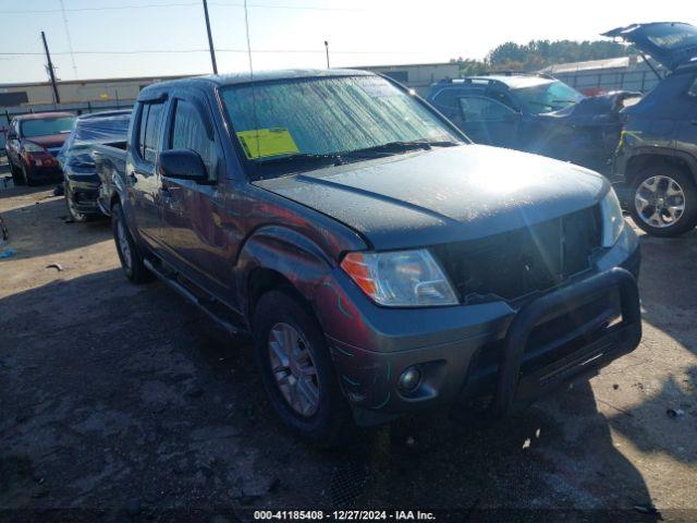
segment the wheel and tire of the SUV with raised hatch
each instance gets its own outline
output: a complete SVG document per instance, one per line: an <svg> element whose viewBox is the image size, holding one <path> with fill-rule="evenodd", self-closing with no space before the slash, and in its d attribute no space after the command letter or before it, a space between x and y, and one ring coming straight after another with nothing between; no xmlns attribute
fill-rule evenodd
<svg viewBox="0 0 697 523"><path fill-rule="evenodd" d="M655 236L678 236L697 226L697 187L674 166L649 167L636 175L627 204L634 222Z"/></svg>

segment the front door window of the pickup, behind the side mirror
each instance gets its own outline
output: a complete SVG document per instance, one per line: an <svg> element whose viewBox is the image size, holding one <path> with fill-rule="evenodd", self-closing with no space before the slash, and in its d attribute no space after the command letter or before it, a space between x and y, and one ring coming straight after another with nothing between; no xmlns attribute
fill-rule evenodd
<svg viewBox="0 0 697 523"><path fill-rule="evenodd" d="M200 112L188 101L176 100L170 148L191 149L198 153L204 160L208 175L215 173L216 144L208 139Z"/></svg>

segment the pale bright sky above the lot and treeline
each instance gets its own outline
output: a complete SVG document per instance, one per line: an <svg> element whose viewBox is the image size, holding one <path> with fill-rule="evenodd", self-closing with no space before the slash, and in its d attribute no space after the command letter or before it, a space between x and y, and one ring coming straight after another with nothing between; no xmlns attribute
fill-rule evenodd
<svg viewBox="0 0 697 523"><path fill-rule="evenodd" d="M247 0L247 13L253 65L265 70L325 68L326 40L332 68L481 59L508 40L600 39L635 22L697 24L692 3ZM242 4L208 0L219 72L248 70ZM0 0L0 84L48 78L41 31L60 80L211 72L201 0Z"/></svg>

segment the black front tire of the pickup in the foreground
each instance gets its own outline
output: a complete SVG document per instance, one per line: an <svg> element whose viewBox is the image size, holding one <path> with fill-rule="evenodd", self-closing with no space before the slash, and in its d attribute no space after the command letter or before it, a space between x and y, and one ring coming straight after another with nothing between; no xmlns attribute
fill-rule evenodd
<svg viewBox="0 0 697 523"><path fill-rule="evenodd" d="M278 328L286 326L291 332L298 335L295 346L299 353L305 353L306 366L298 367L297 364L289 364L283 370L273 372L272 368L280 368L280 360L276 360L276 367L272 367L272 358L278 353ZM301 300L290 293L281 291L270 291L261 296L254 313L254 339L257 364L261 372L264 387L269 394L271 404L281 417L283 423L295 434L311 442L315 446L331 448L344 443L355 428L351 415L351 409L344 399L337 380L329 350L321 328L306 305ZM274 351L271 346L277 345ZM273 355L272 355L273 354ZM299 357L295 358L295 361ZM296 387L295 396L289 393L288 379L299 382L294 376L302 374L298 368L307 369L314 367L308 374L310 381L306 381L305 387ZM281 376L281 377L279 377ZM286 378L283 381L283 378ZM304 376L305 379L308 379ZM307 384L315 386L317 400L311 401L307 394ZM282 390L285 387L285 392ZM304 393L305 392L305 393ZM293 406L291 398L304 400L306 414L299 412L303 405Z"/></svg>

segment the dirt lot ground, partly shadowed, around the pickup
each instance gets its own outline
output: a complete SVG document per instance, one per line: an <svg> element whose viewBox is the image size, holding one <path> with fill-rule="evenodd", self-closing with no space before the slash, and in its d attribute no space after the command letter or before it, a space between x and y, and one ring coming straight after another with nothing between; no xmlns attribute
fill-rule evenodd
<svg viewBox="0 0 697 523"><path fill-rule="evenodd" d="M66 223L46 188L0 192L0 215L16 251L0 260L0 519L342 504L650 521L653 504L697 520L697 233L641 238L644 341L589 384L496 426L437 412L326 452L277 422L245 340L125 280L107 222Z"/></svg>

